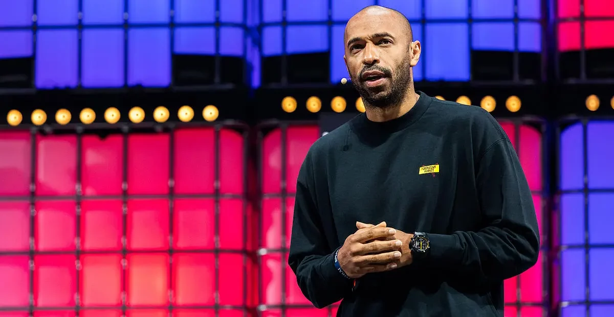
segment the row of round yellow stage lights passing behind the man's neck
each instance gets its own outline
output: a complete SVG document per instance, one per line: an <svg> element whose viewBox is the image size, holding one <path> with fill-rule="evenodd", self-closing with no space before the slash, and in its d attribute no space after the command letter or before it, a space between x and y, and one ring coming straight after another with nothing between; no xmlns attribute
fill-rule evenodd
<svg viewBox="0 0 614 317"><path fill-rule="evenodd" d="M435 98L439 100L445 100L440 95L435 96ZM458 97L456 99L456 102L461 103L462 105L471 105L471 99L469 99L469 97L465 95ZM330 101L330 108L336 113L342 113L346 110L346 104L347 102L343 97L336 96ZM305 105L307 107L307 110L311 113L317 113L318 111L322 110L322 100L315 96L309 97ZM484 97L480 101L480 106L488 112L492 112L493 110L495 110L496 105L497 102L494 97L489 95ZM510 112L516 112L520 110L520 106L520 99L515 95L510 96L507 100L505 100L505 108L507 108L507 110L509 110ZM295 110L297 110L297 100L294 97L285 97L281 101L281 108L287 113L293 113ZM362 102L362 97L359 97L356 100L356 110L360 112L365 112L365 104Z"/></svg>

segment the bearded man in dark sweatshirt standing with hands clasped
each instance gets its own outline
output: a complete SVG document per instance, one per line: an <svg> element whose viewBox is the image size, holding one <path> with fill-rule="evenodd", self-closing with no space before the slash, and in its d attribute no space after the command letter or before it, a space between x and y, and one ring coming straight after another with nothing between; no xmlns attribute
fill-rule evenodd
<svg viewBox="0 0 614 317"><path fill-rule="evenodd" d="M537 217L508 136L483 109L414 91L421 44L395 10L345 31L366 112L313 144L288 263L337 316L503 316L503 280L537 262ZM454 47L450 47L454 50Z"/></svg>

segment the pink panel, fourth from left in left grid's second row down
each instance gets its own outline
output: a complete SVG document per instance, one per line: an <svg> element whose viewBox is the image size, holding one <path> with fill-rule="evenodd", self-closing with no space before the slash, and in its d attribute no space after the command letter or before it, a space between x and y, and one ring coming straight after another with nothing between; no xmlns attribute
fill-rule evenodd
<svg viewBox="0 0 614 317"><path fill-rule="evenodd" d="M129 250L168 250L168 200L128 200Z"/></svg>

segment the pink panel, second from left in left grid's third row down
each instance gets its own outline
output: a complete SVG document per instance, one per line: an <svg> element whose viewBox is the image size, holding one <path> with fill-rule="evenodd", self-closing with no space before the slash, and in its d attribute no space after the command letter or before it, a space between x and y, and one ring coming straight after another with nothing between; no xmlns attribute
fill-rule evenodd
<svg viewBox="0 0 614 317"><path fill-rule="evenodd" d="M34 305L74 306L76 293L77 266L74 255L34 256Z"/></svg>

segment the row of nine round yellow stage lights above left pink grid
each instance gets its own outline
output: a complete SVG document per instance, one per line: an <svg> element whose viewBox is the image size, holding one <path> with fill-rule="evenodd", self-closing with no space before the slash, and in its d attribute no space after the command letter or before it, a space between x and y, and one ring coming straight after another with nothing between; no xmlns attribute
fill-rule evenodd
<svg viewBox="0 0 614 317"><path fill-rule="evenodd" d="M217 110L216 106L208 105L204 107L203 118L206 121L216 121L218 116L219 110ZM104 120L109 124L117 123L120 117L120 111L115 107L108 108L106 111L104 111ZM155 110L153 110L153 120L158 123L168 121L169 117L170 112L165 106L158 106L155 108ZM179 120L182 122L190 122L192 119L194 119L194 110L191 106L181 106L179 111L177 111L177 117L179 117ZM145 119L145 111L143 108L135 106L128 112L128 118L133 123L141 123ZM34 110L32 111L31 119L34 125L45 124L45 122L47 122L47 113L41 109ZM55 113L55 121L58 122L58 124L68 124L71 122L71 119L72 114L66 109L60 109ZM85 108L79 113L79 119L83 124L91 124L96 119L96 113L91 108ZM6 120L9 122L9 125L17 126L23 120L23 115L18 110L11 110L9 111L9 114L7 114Z"/></svg>

